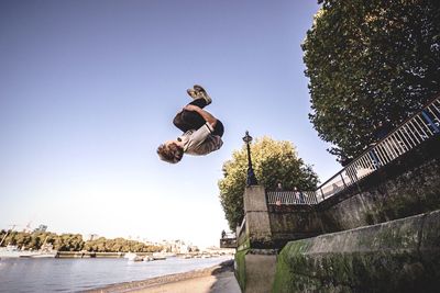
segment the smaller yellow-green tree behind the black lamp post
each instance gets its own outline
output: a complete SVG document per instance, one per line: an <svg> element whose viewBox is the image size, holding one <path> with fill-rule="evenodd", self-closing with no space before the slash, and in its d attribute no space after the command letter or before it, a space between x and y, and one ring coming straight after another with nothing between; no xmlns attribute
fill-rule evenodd
<svg viewBox="0 0 440 293"><path fill-rule="evenodd" d="M252 164L260 185L267 190L282 182L285 190L314 190L318 177L310 166L298 158L289 142L277 142L270 137L256 139L251 146ZM243 219L243 192L246 183L246 148L235 150L232 159L223 164L223 179L219 181L220 202L231 229Z"/></svg>

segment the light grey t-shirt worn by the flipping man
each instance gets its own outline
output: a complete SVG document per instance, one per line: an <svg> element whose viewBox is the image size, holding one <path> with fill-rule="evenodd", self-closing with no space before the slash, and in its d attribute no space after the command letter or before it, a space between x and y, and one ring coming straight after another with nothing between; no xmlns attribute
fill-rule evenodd
<svg viewBox="0 0 440 293"><path fill-rule="evenodd" d="M179 140L184 143L184 151L188 155L202 156L219 149L223 142L218 135L212 135L213 128L205 123L200 128L187 131Z"/></svg>

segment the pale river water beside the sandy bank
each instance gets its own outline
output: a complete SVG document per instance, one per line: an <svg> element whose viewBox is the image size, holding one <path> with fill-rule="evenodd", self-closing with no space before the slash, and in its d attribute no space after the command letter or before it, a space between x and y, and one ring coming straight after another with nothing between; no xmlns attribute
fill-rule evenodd
<svg viewBox="0 0 440 293"><path fill-rule="evenodd" d="M118 259L1 259L0 292L78 292L114 283L209 268L230 256L167 258L147 262Z"/></svg>

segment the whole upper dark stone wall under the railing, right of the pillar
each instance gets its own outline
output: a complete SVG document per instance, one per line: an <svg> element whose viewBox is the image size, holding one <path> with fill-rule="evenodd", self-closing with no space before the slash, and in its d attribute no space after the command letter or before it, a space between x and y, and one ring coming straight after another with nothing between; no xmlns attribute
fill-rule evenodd
<svg viewBox="0 0 440 293"><path fill-rule="evenodd" d="M272 239L286 241L374 225L440 209L440 137L311 206L267 207Z"/></svg>

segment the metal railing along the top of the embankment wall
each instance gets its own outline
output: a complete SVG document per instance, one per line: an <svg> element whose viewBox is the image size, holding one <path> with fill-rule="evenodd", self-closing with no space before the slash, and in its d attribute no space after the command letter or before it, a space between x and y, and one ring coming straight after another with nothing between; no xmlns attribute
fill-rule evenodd
<svg viewBox="0 0 440 293"><path fill-rule="evenodd" d="M316 191L302 191L309 203L292 192L267 192L267 204L317 204L373 173L422 142L440 133L440 95L400 126L366 149ZM311 199L316 199L311 202Z"/></svg>

